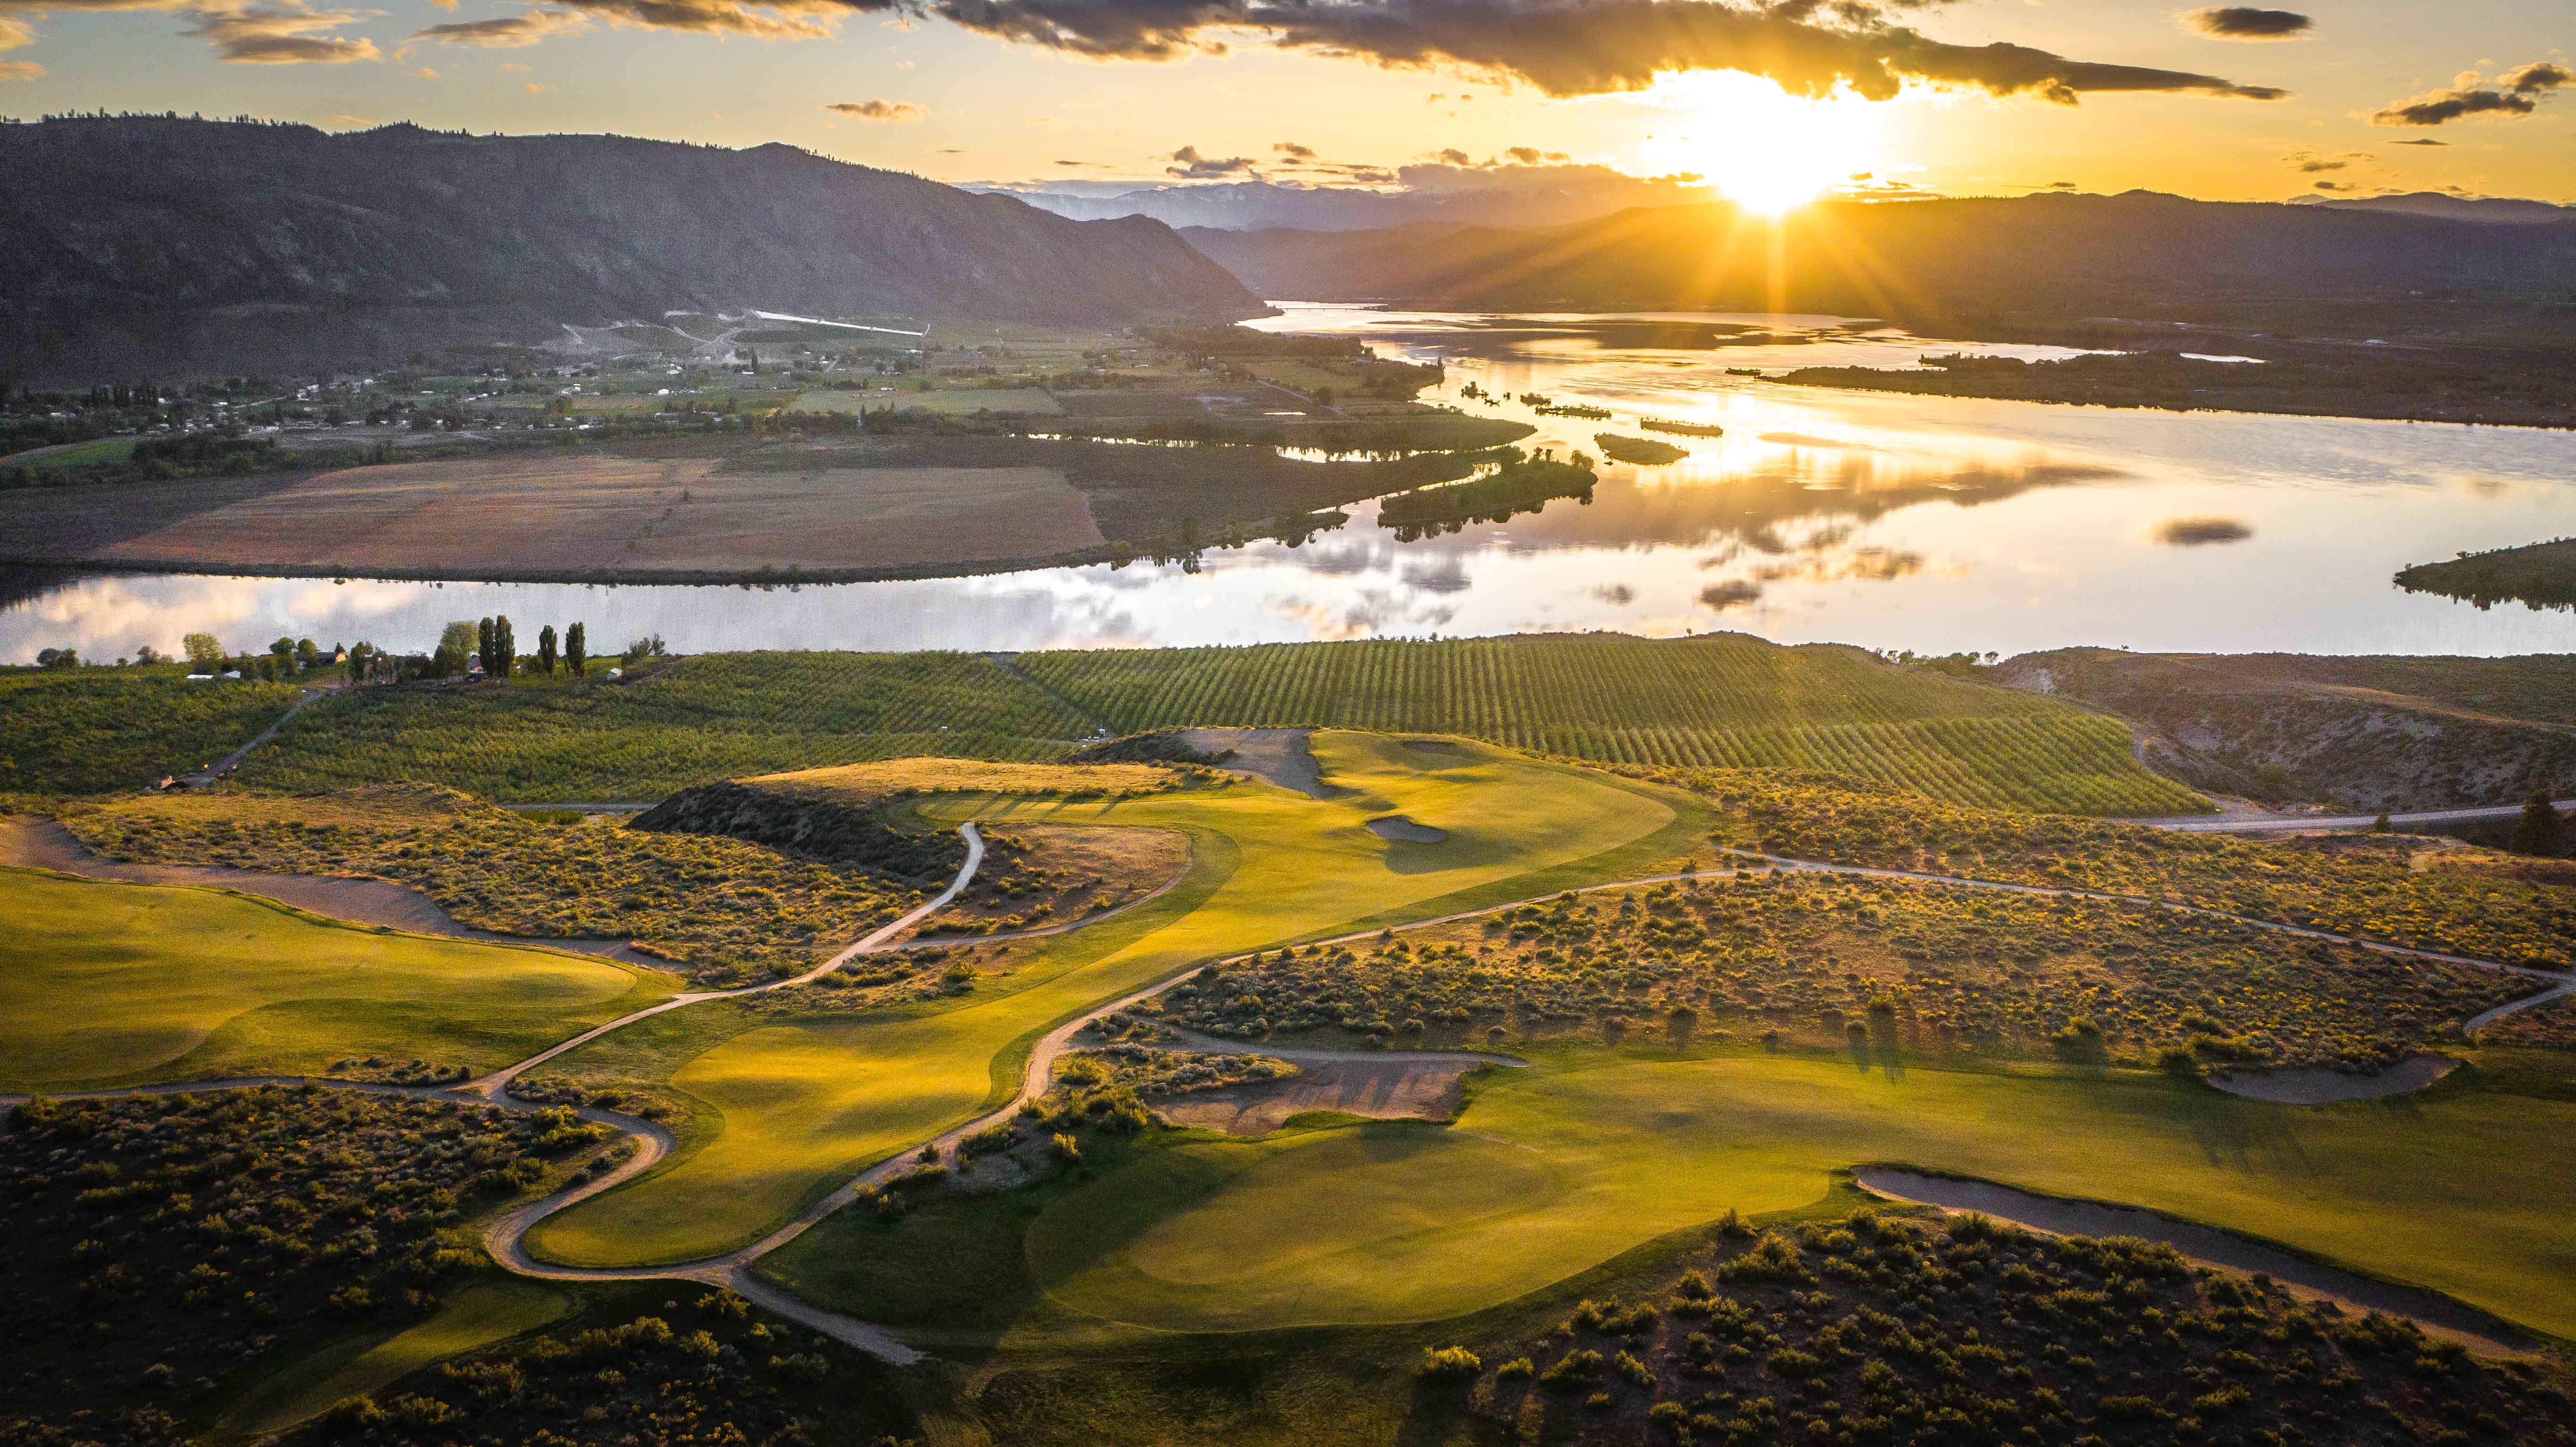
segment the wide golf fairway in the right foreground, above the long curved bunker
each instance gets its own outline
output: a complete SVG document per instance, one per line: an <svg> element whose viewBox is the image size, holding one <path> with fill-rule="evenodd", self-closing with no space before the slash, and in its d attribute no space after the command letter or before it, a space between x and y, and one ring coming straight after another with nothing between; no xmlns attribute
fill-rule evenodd
<svg viewBox="0 0 2576 1447"><path fill-rule="evenodd" d="M1551 1066L1499 1074L1455 1128L1347 1133L1406 1141L1386 1166L1314 1138L1144 1151L1048 1208L1028 1254L1064 1305L1154 1329L1435 1321L1904 1161L2233 1226L2571 1336L2571 1133L2576 1105L2483 1092L2280 1107L2136 1074Z"/></svg>

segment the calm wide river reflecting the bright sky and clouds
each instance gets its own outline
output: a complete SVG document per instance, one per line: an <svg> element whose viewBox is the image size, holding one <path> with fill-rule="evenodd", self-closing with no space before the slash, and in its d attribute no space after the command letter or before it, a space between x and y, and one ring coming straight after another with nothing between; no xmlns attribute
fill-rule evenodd
<svg viewBox="0 0 2576 1447"><path fill-rule="evenodd" d="M2468 548L2576 536L2576 433L2313 417L2166 415L1780 386L1728 368L1909 366L1955 350L1824 317L1690 317L1811 342L1667 350L1597 317L1293 306L1262 322L1355 332L1448 363L1437 399L1592 451L1638 417L1716 422L1672 466L1602 466L1592 502L1396 541L1376 507L1306 546L1177 564L974 579L742 587L428 584L93 574L5 579L0 659L111 659L206 628L425 649L451 618L590 623L595 644L672 649L1051 649L1466 636L1546 628L1783 644L2200 651L2576 651L2576 615L2398 592L2388 577ZM1971 348L2066 355L2050 348ZM1479 384L1615 412L1538 417L1463 402ZM2221 520L2221 528L2174 528ZM2179 541L2233 536L2233 541ZM2241 536L2239 536L2241 533Z"/></svg>

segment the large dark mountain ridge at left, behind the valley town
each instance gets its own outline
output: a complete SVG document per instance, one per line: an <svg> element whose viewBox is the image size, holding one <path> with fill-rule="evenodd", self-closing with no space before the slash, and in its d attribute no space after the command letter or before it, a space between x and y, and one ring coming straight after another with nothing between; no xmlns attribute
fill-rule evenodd
<svg viewBox="0 0 2576 1447"><path fill-rule="evenodd" d="M1146 219L626 136L0 126L0 381L322 371L665 312L1226 322L1260 299Z"/></svg>

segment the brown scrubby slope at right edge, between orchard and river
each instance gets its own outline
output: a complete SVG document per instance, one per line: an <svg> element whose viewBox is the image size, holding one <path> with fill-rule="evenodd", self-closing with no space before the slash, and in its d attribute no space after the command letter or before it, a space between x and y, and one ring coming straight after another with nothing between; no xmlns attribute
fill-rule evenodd
<svg viewBox="0 0 2576 1447"><path fill-rule="evenodd" d="M2576 659L2123 654L2056 649L2004 682L2141 726L2192 785L2347 808L2519 803L2576 790Z"/></svg>

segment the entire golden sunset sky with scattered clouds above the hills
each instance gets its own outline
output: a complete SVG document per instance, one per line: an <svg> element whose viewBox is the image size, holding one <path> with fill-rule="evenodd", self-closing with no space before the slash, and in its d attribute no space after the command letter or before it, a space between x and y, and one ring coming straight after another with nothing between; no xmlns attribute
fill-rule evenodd
<svg viewBox="0 0 2576 1447"><path fill-rule="evenodd" d="M1855 175L2576 201L2566 0L2275 3L0 0L0 113L788 142L938 180L1525 147L1762 206Z"/></svg>

